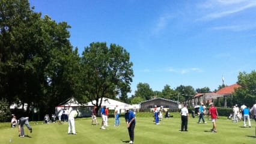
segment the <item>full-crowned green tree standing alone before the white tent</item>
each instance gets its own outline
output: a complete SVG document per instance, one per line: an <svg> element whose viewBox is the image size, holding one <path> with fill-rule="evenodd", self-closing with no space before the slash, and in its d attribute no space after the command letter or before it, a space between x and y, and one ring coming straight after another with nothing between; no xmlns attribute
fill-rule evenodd
<svg viewBox="0 0 256 144"><path fill-rule="evenodd" d="M85 96L93 101L98 109L102 98L127 100L130 92L133 70L129 53L121 46L106 43L91 43L82 53L82 84ZM99 100L100 98L100 100ZM98 110L97 109L97 110Z"/></svg>

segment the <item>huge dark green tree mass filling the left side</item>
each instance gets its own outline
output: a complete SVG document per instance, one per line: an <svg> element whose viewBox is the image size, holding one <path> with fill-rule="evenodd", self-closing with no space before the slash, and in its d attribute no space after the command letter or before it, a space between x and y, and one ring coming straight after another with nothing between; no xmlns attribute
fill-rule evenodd
<svg viewBox="0 0 256 144"><path fill-rule="evenodd" d="M0 97L49 112L75 95L80 60L70 26L33 9L28 0L0 1Z"/></svg>

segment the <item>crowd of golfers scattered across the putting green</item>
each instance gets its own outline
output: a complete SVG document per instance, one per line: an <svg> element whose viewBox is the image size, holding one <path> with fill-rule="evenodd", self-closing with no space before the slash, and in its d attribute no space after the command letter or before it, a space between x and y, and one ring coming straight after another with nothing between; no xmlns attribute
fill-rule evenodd
<svg viewBox="0 0 256 144"><path fill-rule="evenodd" d="M203 103L201 103L201 105L198 107L198 124L201 124L201 120L203 121L203 124L207 124L207 122L204 119L204 115L209 115L212 121L212 129L210 131L212 131L213 133L217 133L217 127L216 127L216 121L219 118L219 113L218 113L218 109L217 107L214 106L213 103L209 104L209 110L208 113L206 113L206 106L204 106ZM99 125L99 122L97 122L97 114L96 114L96 109L97 107L94 106L93 109L91 110L91 124L92 125ZM168 110L163 110L162 106L154 106L153 109L153 113L154 113L154 122L156 125L159 125L159 121L162 120L163 115L162 112L165 112L165 118L169 118L169 112ZM75 118L78 116L79 111L78 110L61 110L58 113L58 118L59 118L59 124L62 124L61 121L66 121L61 120L61 118L66 118L63 115L63 113L67 113L67 119L69 122L69 127L68 127L68 134L77 134L76 133L76 129L75 129ZM120 125L120 108L118 106L115 107L114 110L114 115L115 115L115 124L114 126L117 127ZM241 115L241 116L240 116ZM253 118L255 119L256 122L256 104L254 104L254 106L249 109L249 107L245 106L245 104L243 104L240 109L239 106L236 104L233 107L233 112L231 113L231 116L229 116L228 118L232 118L234 122L239 122L239 120L243 121L243 127L248 126L251 127L251 121L250 121L250 115L253 116ZM102 109L100 109L100 116L102 118L102 126L100 129L105 130L105 127L109 127L108 125L108 116L109 116L109 108L106 106L103 106ZM188 120L189 120L189 112L187 109L187 104L183 105L183 108L180 110L180 116L181 116L181 129L180 131L188 131ZM193 117L193 115L192 115ZM242 118L240 118L242 117ZM135 120L135 110L129 110L129 109L125 109L125 114L124 114L124 118L127 124L127 130L129 133L129 137L130 137L130 141L129 143L133 143L134 142L134 130L135 130L135 124L136 124L136 120ZM32 128L29 125L28 122L28 117L21 117L19 119L16 119L16 116L13 115L13 118L11 119L11 127L18 127L19 130L19 137L24 137L25 133L24 133L24 128L23 126L26 125L26 127L28 128L28 130L30 131L30 133L32 133ZM52 115L52 122L56 120L56 116ZM45 115L44 116L44 123L48 124L50 121L49 115ZM94 124L95 123L95 124Z"/></svg>

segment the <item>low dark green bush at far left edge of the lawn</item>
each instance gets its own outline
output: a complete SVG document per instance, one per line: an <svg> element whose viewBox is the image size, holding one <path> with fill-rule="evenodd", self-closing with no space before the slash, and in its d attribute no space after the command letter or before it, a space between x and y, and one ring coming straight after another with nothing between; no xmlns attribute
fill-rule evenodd
<svg viewBox="0 0 256 144"><path fill-rule="evenodd" d="M0 122L10 121L11 111L7 100L0 100Z"/></svg>

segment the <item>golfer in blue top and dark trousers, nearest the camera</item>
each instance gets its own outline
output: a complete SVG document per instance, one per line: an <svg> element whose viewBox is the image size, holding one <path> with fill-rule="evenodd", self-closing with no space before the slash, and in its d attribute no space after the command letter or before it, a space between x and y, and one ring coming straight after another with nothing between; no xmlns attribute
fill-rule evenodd
<svg viewBox="0 0 256 144"><path fill-rule="evenodd" d="M132 110L129 110L127 108L124 117L126 119L127 129L129 131L129 136L130 136L129 143L133 143L134 142L134 129L135 129L135 124L136 124L135 115L132 112Z"/></svg>

